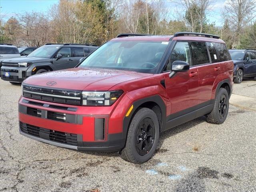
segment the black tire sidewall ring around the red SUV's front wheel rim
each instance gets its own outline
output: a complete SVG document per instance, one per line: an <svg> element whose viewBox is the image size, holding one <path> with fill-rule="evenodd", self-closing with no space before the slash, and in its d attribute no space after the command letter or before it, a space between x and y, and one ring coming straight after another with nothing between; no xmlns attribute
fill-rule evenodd
<svg viewBox="0 0 256 192"><path fill-rule="evenodd" d="M144 155L141 156L140 154L138 154L136 147L135 147L135 140L136 138L136 132L138 129L138 125L139 123L144 119L144 118L150 118L152 120L152 122L154 123L155 126L155 140L154 140L154 144L152 146L152 148L150 149L150 151ZM148 161L154 154L157 144L158 144L158 139L159 139L159 123L158 123L158 118L156 116L156 114L151 110L151 111L147 111L144 113L140 113L138 114L138 119L137 121L134 123L134 129L132 132L132 137L131 137L131 150L132 150L132 155L134 156L134 158L136 160L138 160L139 162L146 162Z"/></svg>

